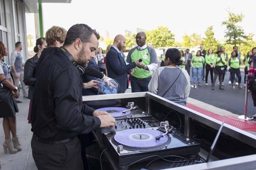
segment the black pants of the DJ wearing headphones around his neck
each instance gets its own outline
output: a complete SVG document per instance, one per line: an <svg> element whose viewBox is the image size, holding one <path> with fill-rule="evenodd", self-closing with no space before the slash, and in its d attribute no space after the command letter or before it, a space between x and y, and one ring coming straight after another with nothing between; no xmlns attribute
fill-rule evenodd
<svg viewBox="0 0 256 170"><path fill-rule="evenodd" d="M32 155L38 170L83 170L78 138L59 144L45 144L32 138Z"/></svg>

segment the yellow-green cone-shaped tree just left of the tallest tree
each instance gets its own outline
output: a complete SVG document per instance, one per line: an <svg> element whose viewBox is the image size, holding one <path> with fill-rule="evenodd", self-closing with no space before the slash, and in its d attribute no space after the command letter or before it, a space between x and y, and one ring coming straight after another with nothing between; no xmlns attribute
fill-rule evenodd
<svg viewBox="0 0 256 170"><path fill-rule="evenodd" d="M219 43L214 37L213 26L208 27L204 32L204 35L206 36L206 38L203 38L202 41L202 43L204 44L204 48L211 48L214 52L217 51Z"/></svg>

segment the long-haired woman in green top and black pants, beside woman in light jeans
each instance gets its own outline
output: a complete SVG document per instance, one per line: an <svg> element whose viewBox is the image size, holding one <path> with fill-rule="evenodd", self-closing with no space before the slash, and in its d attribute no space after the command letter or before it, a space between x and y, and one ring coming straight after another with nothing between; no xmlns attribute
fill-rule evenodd
<svg viewBox="0 0 256 170"><path fill-rule="evenodd" d="M208 75L209 75L209 71L211 74L211 83L213 81L213 70L214 70L214 60L215 60L215 56L214 54L212 54L212 49L208 49L208 52L205 56L205 70L206 70L206 74L205 74L205 85L208 85Z"/></svg>

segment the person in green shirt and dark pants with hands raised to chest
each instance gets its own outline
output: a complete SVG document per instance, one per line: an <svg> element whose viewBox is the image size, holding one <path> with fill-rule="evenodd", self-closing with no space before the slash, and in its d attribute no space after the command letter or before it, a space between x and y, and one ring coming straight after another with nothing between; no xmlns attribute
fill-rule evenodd
<svg viewBox="0 0 256 170"><path fill-rule="evenodd" d="M220 81L219 88L223 90L222 76L225 74L225 71L226 71L225 70L226 62L225 62L225 57L221 56L221 51L217 51L216 54L217 54L217 57L215 57L215 60L214 60L215 68L214 68L214 78L212 82L212 90L214 90L215 82L218 76Z"/></svg>

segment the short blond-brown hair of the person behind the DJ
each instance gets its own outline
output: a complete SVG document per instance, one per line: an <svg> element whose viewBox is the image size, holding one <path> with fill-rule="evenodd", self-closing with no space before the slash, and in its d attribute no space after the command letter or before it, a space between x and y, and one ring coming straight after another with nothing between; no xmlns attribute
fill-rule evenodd
<svg viewBox="0 0 256 170"><path fill-rule="evenodd" d="M53 26L45 33L45 39L48 46L56 46L55 41L64 43L67 31L58 26Z"/></svg>

